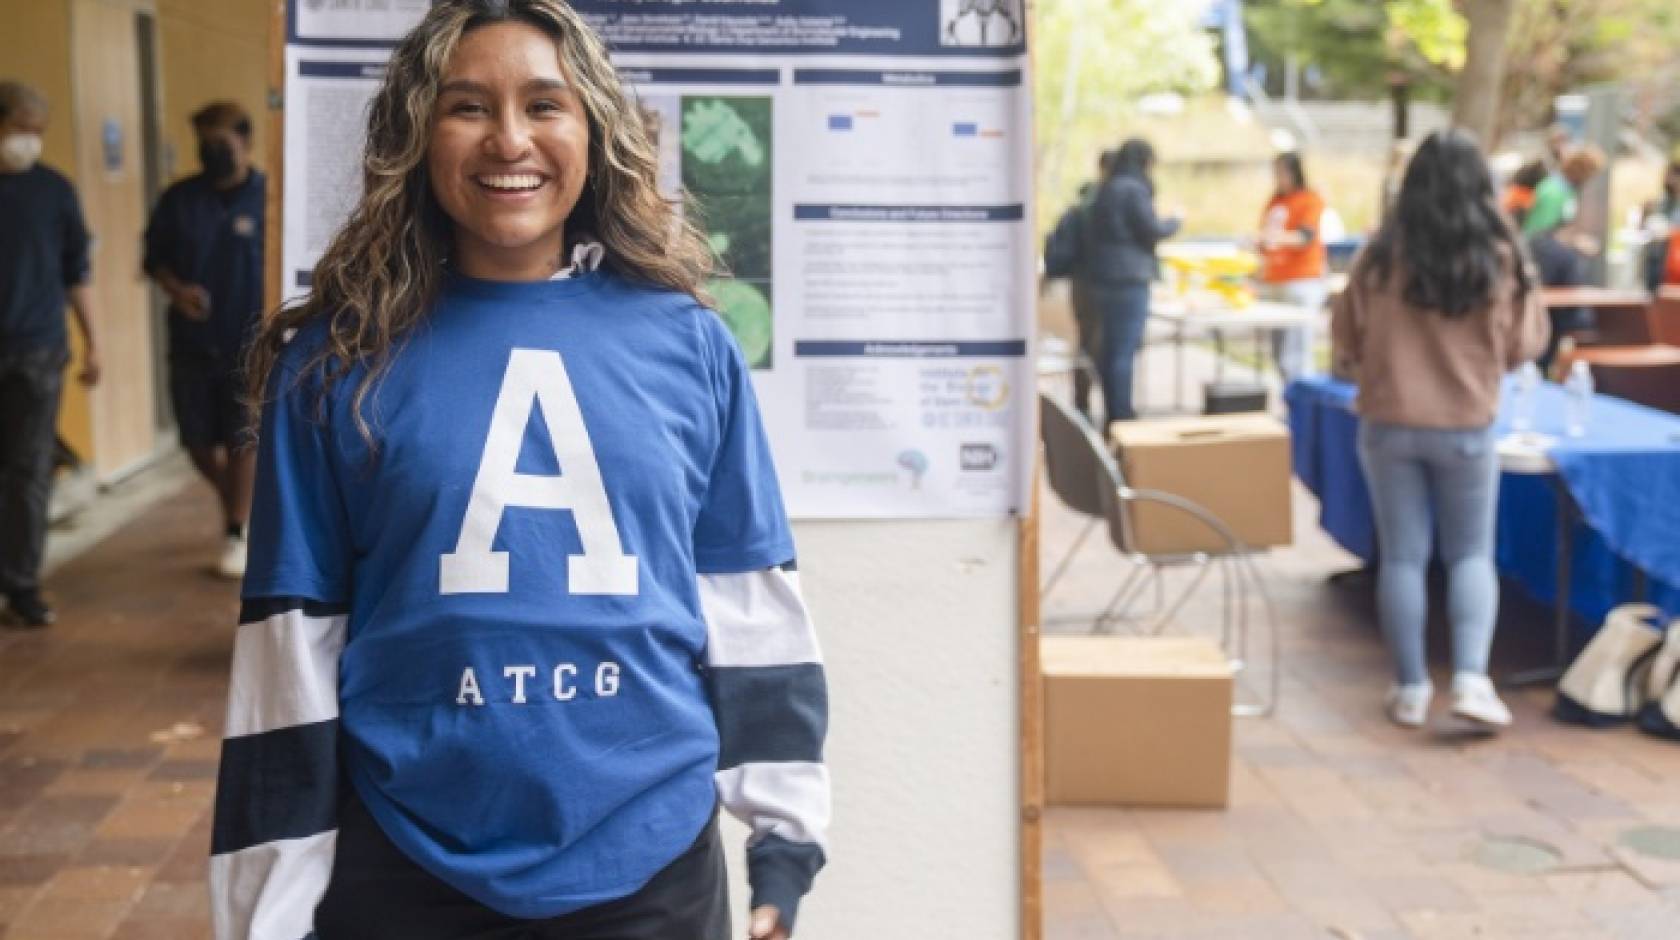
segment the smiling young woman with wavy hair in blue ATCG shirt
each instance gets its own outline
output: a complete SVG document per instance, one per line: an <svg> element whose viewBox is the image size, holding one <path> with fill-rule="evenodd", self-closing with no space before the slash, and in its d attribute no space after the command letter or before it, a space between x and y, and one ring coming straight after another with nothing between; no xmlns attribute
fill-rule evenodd
<svg viewBox="0 0 1680 940"><path fill-rule="evenodd" d="M827 685L711 255L559 0L396 47L250 373L217 937L724 940L825 863ZM635 368L628 368L630 364Z"/></svg>

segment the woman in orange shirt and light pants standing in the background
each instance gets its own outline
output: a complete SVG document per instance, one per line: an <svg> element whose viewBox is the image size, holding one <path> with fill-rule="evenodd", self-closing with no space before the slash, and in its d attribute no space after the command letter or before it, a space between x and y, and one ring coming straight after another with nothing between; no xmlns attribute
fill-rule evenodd
<svg viewBox="0 0 1680 940"><path fill-rule="evenodd" d="M1324 311L1326 255L1320 222L1324 200L1307 186L1299 153L1272 161L1277 191L1260 220L1260 295L1267 300ZM1314 327L1272 334L1272 354L1285 379L1312 371Z"/></svg>

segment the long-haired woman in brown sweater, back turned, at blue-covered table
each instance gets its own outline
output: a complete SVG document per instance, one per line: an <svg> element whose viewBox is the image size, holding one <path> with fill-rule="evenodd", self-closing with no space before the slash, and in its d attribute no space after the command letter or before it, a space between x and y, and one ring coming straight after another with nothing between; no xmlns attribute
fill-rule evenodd
<svg viewBox="0 0 1680 940"><path fill-rule="evenodd" d="M1510 723L1487 676L1499 613L1494 416L1505 371L1549 332L1539 285L1487 163L1463 131L1425 138L1332 306L1337 371L1359 381L1359 462L1376 512L1378 614L1394 656L1389 717L1428 718L1426 566L1440 544L1453 713Z"/></svg>

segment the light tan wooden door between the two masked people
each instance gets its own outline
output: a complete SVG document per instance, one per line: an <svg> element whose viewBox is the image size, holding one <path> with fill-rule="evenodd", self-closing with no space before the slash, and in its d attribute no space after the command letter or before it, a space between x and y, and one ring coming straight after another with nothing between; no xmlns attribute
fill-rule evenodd
<svg viewBox="0 0 1680 940"><path fill-rule="evenodd" d="M151 307L141 270L146 164L134 8L133 0L74 0L71 7L76 181L94 235L94 329L104 366L86 398L101 480L119 477L156 446ZM67 411L74 413L74 401Z"/></svg>

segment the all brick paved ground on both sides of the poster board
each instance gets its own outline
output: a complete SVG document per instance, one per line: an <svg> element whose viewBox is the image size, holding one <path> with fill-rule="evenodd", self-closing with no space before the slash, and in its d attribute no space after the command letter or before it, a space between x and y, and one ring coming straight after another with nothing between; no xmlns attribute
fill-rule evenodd
<svg viewBox="0 0 1680 940"><path fill-rule="evenodd" d="M1680 828L1680 745L1554 725L1541 693L1497 740L1391 728L1369 599L1326 588L1347 559L1297 510L1267 562L1285 702L1238 723L1231 807L1052 811L1048 937L1680 937L1680 859L1633 848ZM197 487L165 500L52 577L57 628L0 631L5 940L207 937L235 601L203 512ZM1047 554L1072 524L1047 497ZM1100 604L1112 571L1087 547L1047 616ZM1544 618L1512 601L1504 636Z"/></svg>

